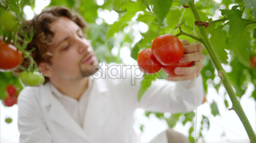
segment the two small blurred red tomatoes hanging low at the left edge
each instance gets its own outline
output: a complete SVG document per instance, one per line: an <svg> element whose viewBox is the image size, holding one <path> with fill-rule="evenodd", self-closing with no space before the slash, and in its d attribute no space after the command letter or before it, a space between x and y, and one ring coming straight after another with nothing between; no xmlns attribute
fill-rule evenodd
<svg viewBox="0 0 256 143"><path fill-rule="evenodd" d="M6 93L7 97L4 99L3 104L5 106L11 107L17 103L17 88L15 87L15 85L10 84L6 87Z"/></svg>

